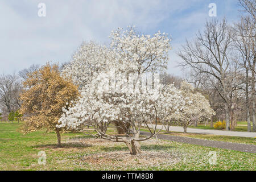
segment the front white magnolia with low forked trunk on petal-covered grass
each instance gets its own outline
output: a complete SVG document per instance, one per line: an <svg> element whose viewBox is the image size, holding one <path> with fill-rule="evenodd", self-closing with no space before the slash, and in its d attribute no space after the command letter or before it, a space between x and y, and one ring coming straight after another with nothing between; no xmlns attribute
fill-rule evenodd
<svg viewBox="0 0 256 182"><path fill-rule="evenodd" d="M134 86L132 90L124 89L125 92L112 92L112 89L102 86L102 80L105 78L95 78L84 88L76 105L63 110L65 114L57 127L68 127L73 130L80 126L93 126L97 137L113 142L124 142L130 154L140 153L139 142L154 137L157 134L158 123L172 112L179 113L178 107L174 110L172 106L183 105L180 93L173 85L159 86L158 89L148 89L141 85ZM125 130L123 135L106 134L109 124L117 120L129 123L131 127ZM151 128L153 122L155 127ZM142 126L146 126L150 131L148 137L139 136Z"/></svg>

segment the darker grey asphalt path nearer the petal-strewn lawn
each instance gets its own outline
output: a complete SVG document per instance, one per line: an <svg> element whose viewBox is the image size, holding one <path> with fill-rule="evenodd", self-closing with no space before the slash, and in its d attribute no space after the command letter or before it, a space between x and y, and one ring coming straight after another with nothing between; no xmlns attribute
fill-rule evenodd
<svg viewBox="0 0 256 182"><path fill-rule="evenodd" d="M145 132L145 131L141 131L141 134L150 135L149 132ZM253 144L219 142L219 141L213 141L213 140L204 140L204 139L189 138L189 137L177 137L177 136L164 135L164 134L158 134L157 137L160 139L171 140L175 142L197 144L200 146L224 148L228 150L236 150L236 151L249 152L249 153L256 154L256 145L253 145Z"/></svg>

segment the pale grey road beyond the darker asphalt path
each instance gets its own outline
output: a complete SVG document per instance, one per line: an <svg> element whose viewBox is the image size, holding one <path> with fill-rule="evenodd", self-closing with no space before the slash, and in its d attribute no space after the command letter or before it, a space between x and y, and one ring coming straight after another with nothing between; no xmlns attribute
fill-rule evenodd
<svg viewBox="0 0 256 182"><path fill-rule="evenodd" d="M155 125L153 125L155 126ZM156 126L157 129L162 129L162 125ZM163 130L164 127L163 127ZM183 132L183 127L180 126L171 126L170 131ZM225 135L232 137L256 137L256 132L242 132L242 131L223 131L223 130L205 130L205 129L192 129L187 128L187 133L201 133L201 134L211 134L211 135Z"/></svg>

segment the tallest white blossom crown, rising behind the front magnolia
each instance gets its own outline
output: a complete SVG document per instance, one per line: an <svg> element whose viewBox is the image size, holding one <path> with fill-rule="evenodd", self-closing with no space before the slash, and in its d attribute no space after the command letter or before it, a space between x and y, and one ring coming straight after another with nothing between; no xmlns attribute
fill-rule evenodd
<svg viewBox="0 0 256 182"><path fill-rule="evenodd" d="M110 35L110 47L117 52L123 71L156 72L167 68L168 50L171 49L166 33L158 31L153 36L139 34L134 27L126 31L118 28ZM131 64L132 63L132 64Z"/></svg>

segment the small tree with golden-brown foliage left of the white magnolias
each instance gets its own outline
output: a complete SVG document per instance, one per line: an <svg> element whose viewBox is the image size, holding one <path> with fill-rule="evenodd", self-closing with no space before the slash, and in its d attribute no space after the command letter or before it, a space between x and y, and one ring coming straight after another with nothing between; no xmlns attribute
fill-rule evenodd
<svg viewBox="0 0 256 182"><path fill-rule="evenodd" d="M55 130L60 147L60 133L66 129L58 128L56 124L63 114L63 107L68 109L72 105L71 101L79 95L77 86L61 77L57 64L49 63L28 73L23 86L20 114L23 114L24 122L21 131L27 134L39 129Z"/></svg>

